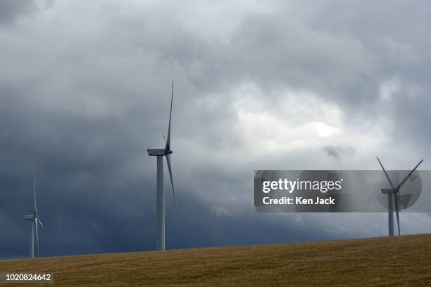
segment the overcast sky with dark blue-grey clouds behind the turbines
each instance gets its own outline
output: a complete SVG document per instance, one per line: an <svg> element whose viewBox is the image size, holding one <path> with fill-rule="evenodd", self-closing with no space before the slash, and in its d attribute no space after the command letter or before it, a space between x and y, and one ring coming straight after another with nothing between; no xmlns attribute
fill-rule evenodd
<svg viewBox="0 0 431 287"><path fill-rule="evenodd" d="M387 215L261 214L254 170L431 169L430 1L0 0L0 257L385 236ZM400 215L403 234L431 231Z"/></svg>

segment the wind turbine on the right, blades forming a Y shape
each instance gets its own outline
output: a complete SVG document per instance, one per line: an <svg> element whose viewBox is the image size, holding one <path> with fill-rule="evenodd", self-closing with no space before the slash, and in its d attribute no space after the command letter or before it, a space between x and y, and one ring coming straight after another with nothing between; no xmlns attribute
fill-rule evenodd
<svg viewBox="0 0 431 287"><path fill-rule="evenodd" d="M394 204L395 203L395 213L396 213L396 224L398 226L398 235L401 235L401 231L399 229L399 190L401 189L401 186L403 186L407 179L411 177L411 174L415 172L415 170L418 168L418 166L423 162L423 160L420 160L420 162L416 165L416 167L411 170L411 172L408 172L407 176L404 177L404 179L398 184L398 186L394 187L394 184L392 184L391 178L389 177L389 174L387 174L385 167L383 167L382 162L380 162L380 159L377 157L377 160L380 163L380 166L382 167L383 172L385 172L385 176L387 178L387 181L389 181L389 184L391 185L390 189L382 189L382 193L387 193L387 214L388 214L388 224L389 224L389 236L394 236Z"/></svg>

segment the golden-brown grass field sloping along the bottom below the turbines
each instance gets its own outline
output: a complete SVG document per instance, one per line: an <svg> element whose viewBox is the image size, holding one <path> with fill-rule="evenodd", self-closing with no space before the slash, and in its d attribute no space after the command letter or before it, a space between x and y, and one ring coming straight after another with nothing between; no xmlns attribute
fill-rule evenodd
<svg viewBox="0 0 431 287"><path fill-rule="evenodd" d="M3 286L431 286L431 235L0 260Z"/></svg>

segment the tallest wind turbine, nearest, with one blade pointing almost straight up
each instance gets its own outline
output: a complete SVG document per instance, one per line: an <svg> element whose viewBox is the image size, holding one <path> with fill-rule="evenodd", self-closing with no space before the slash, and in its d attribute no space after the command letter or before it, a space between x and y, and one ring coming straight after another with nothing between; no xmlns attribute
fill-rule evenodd
<svg viewBox="0 0 431 287"><path fill-rule="evenodd" d="M170 155L173 153L173 151L170 150L170 120L172 117L172 101L173 81L172 93L170 94L168 138L165 141L165 148L149 148L146 150L148 152L148 155L157 157L157 250L165 250L165 194L163 193L163 156L166 157L166 162L168 163L170 184L172 185L172 193L175 202L175 212L177 214L177 199L175 198L172 170L170 167Z"/></svg>

